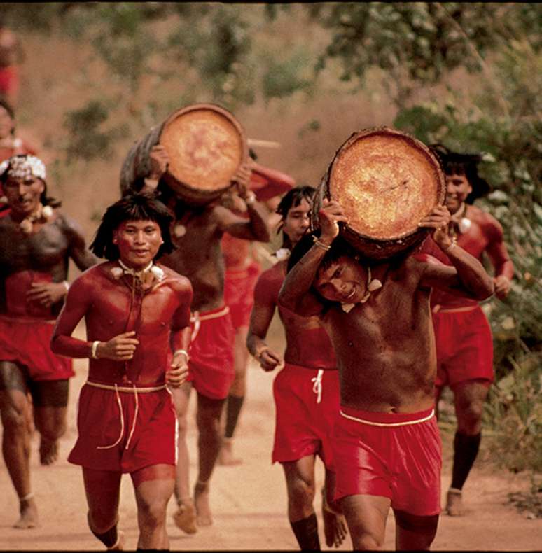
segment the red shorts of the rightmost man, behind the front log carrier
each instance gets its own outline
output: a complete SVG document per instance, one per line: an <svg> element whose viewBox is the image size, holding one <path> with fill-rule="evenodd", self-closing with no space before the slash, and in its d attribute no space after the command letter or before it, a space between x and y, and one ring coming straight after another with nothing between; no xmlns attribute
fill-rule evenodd
<svg viewBox="0 0 542 553"><path fill-rule="evenodd" d="M433 328L437 387L474 379L493 381L492 332L480 307L459 313L433 313Z"/></svg>

